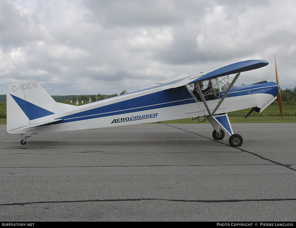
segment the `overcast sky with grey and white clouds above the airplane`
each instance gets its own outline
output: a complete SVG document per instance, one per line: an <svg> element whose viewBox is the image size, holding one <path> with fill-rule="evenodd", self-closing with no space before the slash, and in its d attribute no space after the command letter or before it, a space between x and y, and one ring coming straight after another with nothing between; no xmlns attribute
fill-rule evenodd
<svg viewBox="0 0 296 228"><path fill-rule="evenodd" d="M264 59L237 85L296 86L294 0L1 0L0 94L37 80L50 95L112 94Z"/></svg>

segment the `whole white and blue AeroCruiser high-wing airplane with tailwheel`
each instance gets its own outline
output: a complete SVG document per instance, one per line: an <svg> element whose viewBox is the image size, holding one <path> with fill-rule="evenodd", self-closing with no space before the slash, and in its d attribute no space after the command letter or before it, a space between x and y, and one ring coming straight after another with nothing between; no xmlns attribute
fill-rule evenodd
<svg viewBox="0 0 296 228"><path fill-rule="evenodd" d="M242 136L234 134L227 113L247 108L252 108L250 113L262 112L276 96L281 99L280 86L278 80L242 86L234 83L241 72L266 65L265 60L237 62L210 72L172 77L147 89L82 106L55 102L36 81L8 85L7 132L21 134L24 145L27 138L38 133L197 117L209 120L215 140L223 139L227 132L229 144L241 146ZM233 74L230 81L229 75Z"/></svg>

